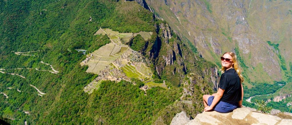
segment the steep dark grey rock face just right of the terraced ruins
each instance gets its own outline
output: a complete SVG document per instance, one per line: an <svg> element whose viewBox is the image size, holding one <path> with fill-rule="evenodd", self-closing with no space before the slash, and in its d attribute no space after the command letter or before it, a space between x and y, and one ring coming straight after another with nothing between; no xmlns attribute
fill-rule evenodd
<svg viewBox="0 0 292 125"><path fill-rule="evenodd" d="M156 65L156 71L158 75L161 75L166 66L173 66L172 75L176 72L186 74L187 67L184 64L184 58L182 53L182 42L179 38L173 38L172 42L169 40L173 37L172 31L167 23L161 23L156 25L157 33L159 37L156 39L154 45L152 46L152 51L150 52L150 57L156 59L159 63ZM161 46L164 48L161 48ZM160 53L163 51L163 53ZM158 57L159 53L159 57ZM157 59L158 57L158 59Z"/></svg>

